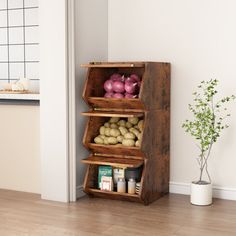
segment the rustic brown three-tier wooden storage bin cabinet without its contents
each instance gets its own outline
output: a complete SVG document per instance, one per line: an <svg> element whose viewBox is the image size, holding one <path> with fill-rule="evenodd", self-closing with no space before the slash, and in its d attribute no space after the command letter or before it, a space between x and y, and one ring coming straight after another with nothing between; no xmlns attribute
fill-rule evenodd
<svg viewBox="0 0 236 236"><path fill-rule="evenodd" d="M90 63L83 98L91 110L83 144L91 155L82 160L88 164L84 191L89 195L149 204L169 191L170 144L170 64L159 62ZM138 98L104 98L104 82L113 73L137 74L141 80ZM99 127L110 117L144 119L140 147L121 144L95 144ZM122 168L142 166L139 194L102 191L98 186L98 165Z"/></svg>

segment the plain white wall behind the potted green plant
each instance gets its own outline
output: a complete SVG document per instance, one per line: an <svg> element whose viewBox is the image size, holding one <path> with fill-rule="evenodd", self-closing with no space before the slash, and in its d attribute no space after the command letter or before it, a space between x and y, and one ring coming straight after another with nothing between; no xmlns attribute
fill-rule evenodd
<svg viewBox="0 0 236 236"><path fill-rule="evenodd" d="M235 9L234 0L109 1L109 60L172 63L172 182L198 177L197 149L181 128L194 88L217 78L222 95L236 94ZM210 171L215 185L236 191L235 104L231 108L231 127L214 146Z"/></svg>

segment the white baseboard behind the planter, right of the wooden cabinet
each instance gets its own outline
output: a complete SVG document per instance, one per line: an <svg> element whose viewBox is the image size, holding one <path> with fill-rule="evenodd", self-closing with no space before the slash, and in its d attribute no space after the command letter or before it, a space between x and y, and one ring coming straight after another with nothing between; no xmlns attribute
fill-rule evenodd
<svg viewBox="0 0 236 236"><path fill-rule="evenodd" d="M190 195L190 184L170 182L170 193ZM213 197L227 200L236 200L236 188L213 186Z"/></svg>

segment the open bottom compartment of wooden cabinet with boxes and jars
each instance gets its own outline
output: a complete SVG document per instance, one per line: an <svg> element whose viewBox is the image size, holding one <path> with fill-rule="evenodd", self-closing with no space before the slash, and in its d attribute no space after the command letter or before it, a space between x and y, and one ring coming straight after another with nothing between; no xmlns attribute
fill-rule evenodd
<svg viewBox="0 0 236 236"><path fill-rule="evenodd" d="M110 165L89 164L84 191L95 196L120 200L140 201L143 165L137 168L120 168Z"/></svg>

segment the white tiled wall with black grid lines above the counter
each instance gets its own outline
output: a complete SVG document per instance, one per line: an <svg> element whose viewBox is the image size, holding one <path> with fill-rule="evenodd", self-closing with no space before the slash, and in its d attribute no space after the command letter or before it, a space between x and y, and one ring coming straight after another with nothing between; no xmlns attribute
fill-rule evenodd
<svg viewBox="0 0 236 236"><path fill-rule="evenodd" d="M39 87L38 0L0 0L0 82Z"/></svg>

